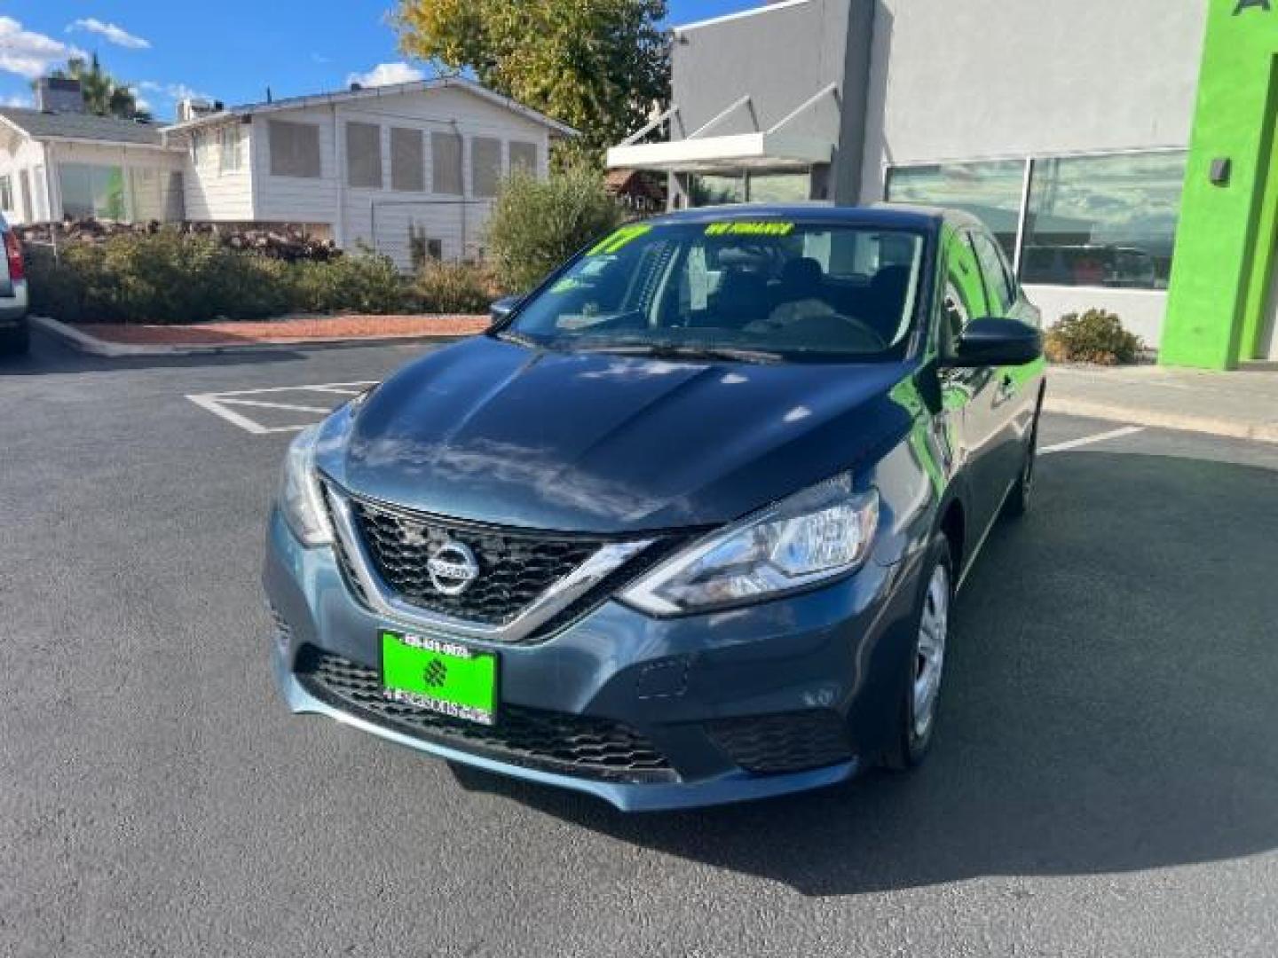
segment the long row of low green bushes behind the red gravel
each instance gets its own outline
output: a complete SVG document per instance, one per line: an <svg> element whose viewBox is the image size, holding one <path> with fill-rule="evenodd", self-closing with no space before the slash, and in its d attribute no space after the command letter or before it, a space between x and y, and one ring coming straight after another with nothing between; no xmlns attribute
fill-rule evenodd
<svg viewBox="0 0 1278 958"><path fill-rule="evenodd" d="M66 322L198 323L285 313L401 313L409 289L372 253L285 262L160 230L59 249L28 247L33 312Z"/></svg>

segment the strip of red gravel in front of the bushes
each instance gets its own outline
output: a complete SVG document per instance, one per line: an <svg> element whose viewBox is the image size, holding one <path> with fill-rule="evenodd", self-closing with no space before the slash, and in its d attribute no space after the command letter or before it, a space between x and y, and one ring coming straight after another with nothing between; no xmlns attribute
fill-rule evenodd
<svg viewBox="0 0 1278 958"><path fill-rule="evenodd" d="M124 326L84 323L84 333L130 346L230 346L253 342L364 340L412 336L470 336L488 327L486 316L326 316L261 323Z"/></svg>

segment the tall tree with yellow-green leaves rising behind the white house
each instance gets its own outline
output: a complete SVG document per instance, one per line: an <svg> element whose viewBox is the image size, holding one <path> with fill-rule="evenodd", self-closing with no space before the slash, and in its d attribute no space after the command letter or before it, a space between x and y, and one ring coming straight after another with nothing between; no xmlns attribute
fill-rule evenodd
<svg viewBox="0 0 1278 958"><path fill-rule="evenodd" d="M581 133L598 152L670 97L666 0L399 0L400 46Z"/></svg>

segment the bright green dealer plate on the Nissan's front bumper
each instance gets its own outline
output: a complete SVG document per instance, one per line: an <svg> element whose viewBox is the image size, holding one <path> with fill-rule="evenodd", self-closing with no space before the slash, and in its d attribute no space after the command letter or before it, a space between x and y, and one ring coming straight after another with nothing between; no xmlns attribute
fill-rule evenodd
<svg viewBox="0 0 1278 958"><path fill-rule="evenodd" d="M497 720L497 657L382 630L382 694L405 705L492 726Z"/></svg>

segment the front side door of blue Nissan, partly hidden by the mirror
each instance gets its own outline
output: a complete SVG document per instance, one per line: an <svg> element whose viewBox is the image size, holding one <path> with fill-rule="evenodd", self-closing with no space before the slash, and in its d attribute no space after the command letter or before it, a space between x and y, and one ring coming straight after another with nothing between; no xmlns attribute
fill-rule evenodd
<svg viewBox="0 0 1278 958"><path fill-rule="evenodd" d="M939 342L942 358L953 355L973 319L989 314L980 264L967 235L960 230L942 232L943 282L941 296ZM969 369L944 368L941 386L944 404L957 430L955 457L967 488L969 529L984 535L1002 503L1006 484L1001 484L1001 468L996 448L1003 427L1003 411L996 404L996 378L992 367Z"/></svg>

